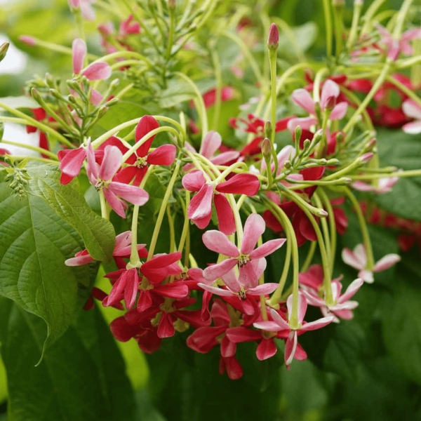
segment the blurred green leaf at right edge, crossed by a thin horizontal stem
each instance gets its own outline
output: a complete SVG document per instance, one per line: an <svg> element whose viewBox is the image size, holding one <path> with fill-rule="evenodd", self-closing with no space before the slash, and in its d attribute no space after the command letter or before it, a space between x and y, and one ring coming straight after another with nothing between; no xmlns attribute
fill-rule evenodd
<svg viewBox="0 0 421 421"><path fill-rule="evenodd" d="M420 168L419 136L382 129L377 131L377 140L382 166L396 166L403 170ZM421 177L400 178L392 192L377 194L374 200L397 216L420 221Z"/></svg>

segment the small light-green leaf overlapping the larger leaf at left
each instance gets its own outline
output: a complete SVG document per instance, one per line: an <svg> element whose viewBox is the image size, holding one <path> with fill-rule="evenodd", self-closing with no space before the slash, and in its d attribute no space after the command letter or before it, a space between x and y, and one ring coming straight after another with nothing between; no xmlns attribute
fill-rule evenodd
<svg viewBox="0 0 421 421"><path fill-rule="evenodd" d="M112 224L97 215L79 192L77 180L60 184L60 170L55 165L29 166L31 193L42 197L53 210L72 225L95 260L108 262L112 258L115 232Z"/></svg>

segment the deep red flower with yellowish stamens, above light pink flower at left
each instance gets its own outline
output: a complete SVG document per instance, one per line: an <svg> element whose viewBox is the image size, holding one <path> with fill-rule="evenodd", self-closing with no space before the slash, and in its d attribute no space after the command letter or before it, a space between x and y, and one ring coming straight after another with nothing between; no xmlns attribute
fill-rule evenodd
<svg viewBox="0 0 421 421"><path fill-rule="evenodd" d="M143 116L138 126L136 126L136 142L139 142L155 128L159 128L158 121L152 116ZM119 174L116 176L117 181L128 184L133 180L133 185L138 186L142 182L149 165L170 166L174 162L176 153L174 145L162 145L148 154L154 138L154 135L151 136L143 145L136 149L132 156L129 156L126 163L130 164L130 166L126 166L119 171Z"/></svg>

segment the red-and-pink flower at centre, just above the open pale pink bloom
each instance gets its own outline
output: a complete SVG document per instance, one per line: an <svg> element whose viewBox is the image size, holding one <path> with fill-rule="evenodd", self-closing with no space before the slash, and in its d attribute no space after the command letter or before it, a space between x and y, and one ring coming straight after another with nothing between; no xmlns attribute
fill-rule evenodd
<svg viewBox="0 0 421 421"><path fill-rule="evenodd" d="M182 178L182 185L190 192L198 192L189 203L188 218L200 229L206 228L212 216L212 203L215 203L219 229L230 235L235 232L236 227L234 213L225 194L254 196L259 190L260 182L255 175L243 173L215 185L215 182L206 182L202 171L195 170Z"/></svg>

